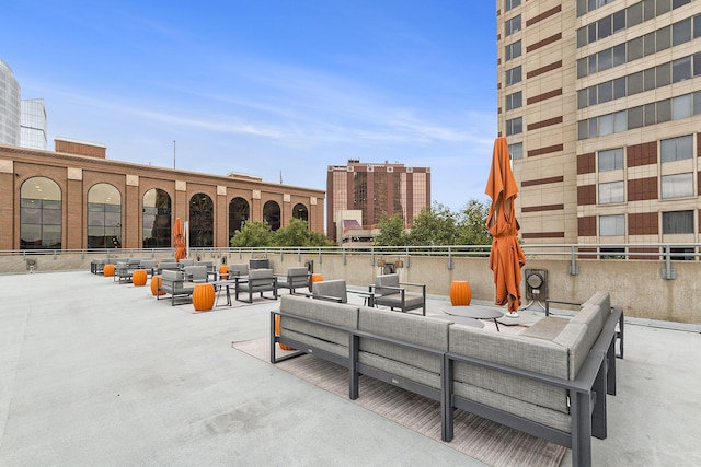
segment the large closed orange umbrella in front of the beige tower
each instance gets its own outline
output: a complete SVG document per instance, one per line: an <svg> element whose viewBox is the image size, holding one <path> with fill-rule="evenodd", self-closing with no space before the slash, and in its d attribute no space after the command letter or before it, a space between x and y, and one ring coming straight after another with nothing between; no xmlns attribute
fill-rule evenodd
<svg viewBox="0 0 701 467"><path fill-rule="evenodd" d="M506 138L494 141L492 168L484 192L492 198L486 227L492 234L490 269L494 272L496 285L494 303L508 303L507 316L516 317L521 303L521 268L526 264L526 257L518 243L520 226L514 209L518 187L512 172Z"/></svg>

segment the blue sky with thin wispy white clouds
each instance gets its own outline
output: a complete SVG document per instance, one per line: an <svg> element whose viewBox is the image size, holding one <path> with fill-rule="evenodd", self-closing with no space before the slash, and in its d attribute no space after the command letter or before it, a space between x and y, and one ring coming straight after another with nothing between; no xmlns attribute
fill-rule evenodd
<svg viewBox="0 0 701 467"><path fill-rule="evenodd" d="M0 58L54 138L107 157L326 188L327 165L432 168L485 199L496 137L491 1L7 2Z"/></svg>

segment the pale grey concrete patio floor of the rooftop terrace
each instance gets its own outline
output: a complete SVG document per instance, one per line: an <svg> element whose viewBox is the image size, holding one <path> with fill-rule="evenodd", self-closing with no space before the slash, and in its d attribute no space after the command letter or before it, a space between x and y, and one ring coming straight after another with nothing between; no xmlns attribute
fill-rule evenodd
<svg viewBox="0 0 701 467"><path fill-rule="evenodd" d="M196 314L88 271L0 291L0 466L483 465L233 349L275 302ZM595 466L701 465L700 332L628 320Z"/></svg>

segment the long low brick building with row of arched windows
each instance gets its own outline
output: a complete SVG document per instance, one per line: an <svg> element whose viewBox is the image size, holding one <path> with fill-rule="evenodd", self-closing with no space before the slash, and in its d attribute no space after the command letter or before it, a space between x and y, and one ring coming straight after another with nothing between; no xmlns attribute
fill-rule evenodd
<svg viewBox="0 0 701 467"><path fill-rule="evenodd" d="M0 145L0 250L168 248L175 218L191 247L227 247L248 220L323 232L323 206L322 190L112 161L102 144Z"/></svg>

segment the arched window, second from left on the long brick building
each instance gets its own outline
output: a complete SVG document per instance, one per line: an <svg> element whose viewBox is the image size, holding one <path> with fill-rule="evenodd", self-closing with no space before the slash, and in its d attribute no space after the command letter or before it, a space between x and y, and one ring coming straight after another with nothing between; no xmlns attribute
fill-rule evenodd
<svg viewBox="0 0 701 467"><path fill-rule="evenodd" d="M88 248L122 248L122 195L113 185L88 191Z"/></svg>

